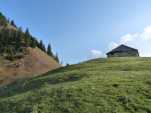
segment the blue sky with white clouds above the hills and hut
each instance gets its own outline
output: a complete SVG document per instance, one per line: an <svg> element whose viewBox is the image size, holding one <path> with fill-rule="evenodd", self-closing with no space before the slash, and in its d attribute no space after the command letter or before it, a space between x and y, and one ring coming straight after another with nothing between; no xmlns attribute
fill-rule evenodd
<svg viewBox="0 0 151 113"><path fill-rule="evenodd" d="M64 63L103 57L121 43L151 55L151 0L1 0L0 11L50 42Z"/></svg>

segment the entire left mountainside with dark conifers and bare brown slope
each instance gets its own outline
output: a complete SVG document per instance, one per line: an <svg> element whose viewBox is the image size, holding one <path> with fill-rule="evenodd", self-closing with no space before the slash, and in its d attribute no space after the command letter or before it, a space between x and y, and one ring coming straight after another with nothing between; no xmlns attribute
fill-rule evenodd
<svg viewBox="0 0 151 113"><path fill-rule="evenodd" d="M0 12L0 86L60 67L58 55Z"/></svg>

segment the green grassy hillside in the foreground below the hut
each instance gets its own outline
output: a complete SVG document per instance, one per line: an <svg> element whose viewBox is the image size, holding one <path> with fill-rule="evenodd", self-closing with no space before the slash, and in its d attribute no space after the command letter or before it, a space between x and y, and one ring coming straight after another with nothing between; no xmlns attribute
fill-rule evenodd
<svg viewBox="0 0 151 113"><path fill-rule="evenodd" d="M1 113L151 113L151 58L96 59L0 89Z"/></svg>

